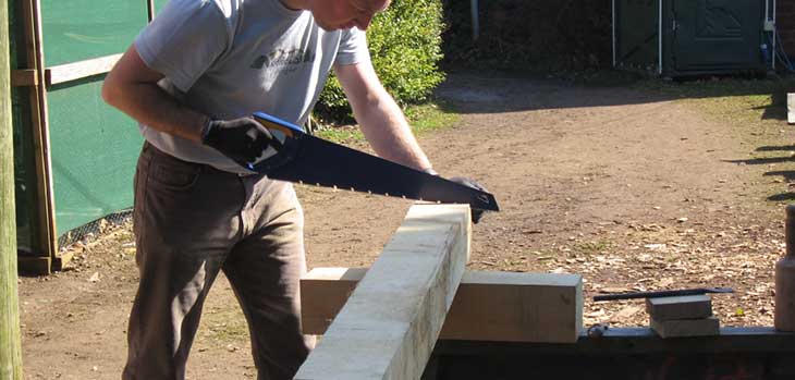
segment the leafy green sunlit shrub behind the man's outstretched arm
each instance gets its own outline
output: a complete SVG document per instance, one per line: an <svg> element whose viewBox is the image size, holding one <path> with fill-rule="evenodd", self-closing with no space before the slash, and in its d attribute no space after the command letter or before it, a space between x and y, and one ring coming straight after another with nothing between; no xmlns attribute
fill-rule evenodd
<svg viewBox="0 0 795 380"><path fill-rule="evenodd" d="M394 0L367 29L372 65L399 105L419 103L444 79L441 0ZM320 94L316 115L327 121L351 119L351 107L332 75Z"/></svg>

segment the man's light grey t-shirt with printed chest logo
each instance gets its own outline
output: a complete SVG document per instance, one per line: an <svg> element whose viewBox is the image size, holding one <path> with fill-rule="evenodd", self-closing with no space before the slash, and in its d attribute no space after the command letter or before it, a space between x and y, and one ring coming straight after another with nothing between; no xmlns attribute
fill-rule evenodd
<svg viewBox="0 0 795 380"><path fill-rule="evenodd" d="M135 39L159 85L213 119L261 111L302 125L334 64L370 59L357 28L327 32L280 0L171 0ZM140 125L158 149L247 173L217 150Z"/></svg>

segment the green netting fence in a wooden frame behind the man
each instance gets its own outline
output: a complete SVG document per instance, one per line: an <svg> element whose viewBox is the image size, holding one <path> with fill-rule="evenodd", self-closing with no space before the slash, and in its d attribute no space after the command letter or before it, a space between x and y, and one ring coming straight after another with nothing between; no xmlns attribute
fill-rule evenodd
<svg viewBox="0 0 795 380"><path fill-rule="evenodd" d="M156 1L156 9L166 0ZM12 68L28 68L22 0L10 1ZM122 53L147 23L146 0L41 0L45 68ZM105 76L47 88L57 236L80 238L91 222L132 207L137 125L100 97ZM14 87L14 163L21 255L42 247L29 87Z"/></svg>

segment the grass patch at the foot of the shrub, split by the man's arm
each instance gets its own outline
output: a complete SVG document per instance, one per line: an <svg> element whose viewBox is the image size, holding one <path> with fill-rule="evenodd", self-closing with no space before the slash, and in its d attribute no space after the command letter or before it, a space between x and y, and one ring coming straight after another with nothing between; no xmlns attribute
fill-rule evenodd
<svg viewBox="0 0 795 380"><path fill-rule="evenodd" d="M416 135L450 127L458 120L458 114L448 105L437 102L411 106L404 110L404 113ZM338 144L366 142L358 127L348 125L321 127L317 132L317 136Z"/></svg>

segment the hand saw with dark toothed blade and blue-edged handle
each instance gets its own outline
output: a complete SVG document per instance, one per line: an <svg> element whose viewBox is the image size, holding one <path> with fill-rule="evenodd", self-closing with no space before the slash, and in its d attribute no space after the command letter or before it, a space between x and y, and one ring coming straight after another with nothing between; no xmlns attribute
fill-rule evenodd
<svg viewBox="0 0 795 380"><path fill-rule="evenodd" d="M308 135L299 126L262 112L254 119L276 142L247 168L270 179L500 210L489 193Z"/></svg>

